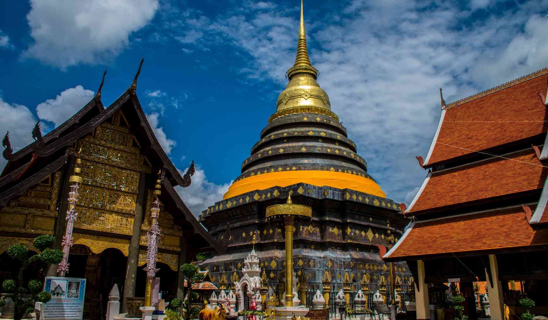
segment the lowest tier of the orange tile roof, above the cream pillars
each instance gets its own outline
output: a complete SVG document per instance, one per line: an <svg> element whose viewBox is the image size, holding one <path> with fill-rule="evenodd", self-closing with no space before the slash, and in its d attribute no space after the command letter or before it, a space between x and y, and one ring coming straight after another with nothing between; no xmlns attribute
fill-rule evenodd
<svg viewBox="0 0 548 320"><path fill-rule="evenodd" d="M534 231L520 206L413 222L384 258L404 260L414 256L547 244L548 230Z"/></svg>

